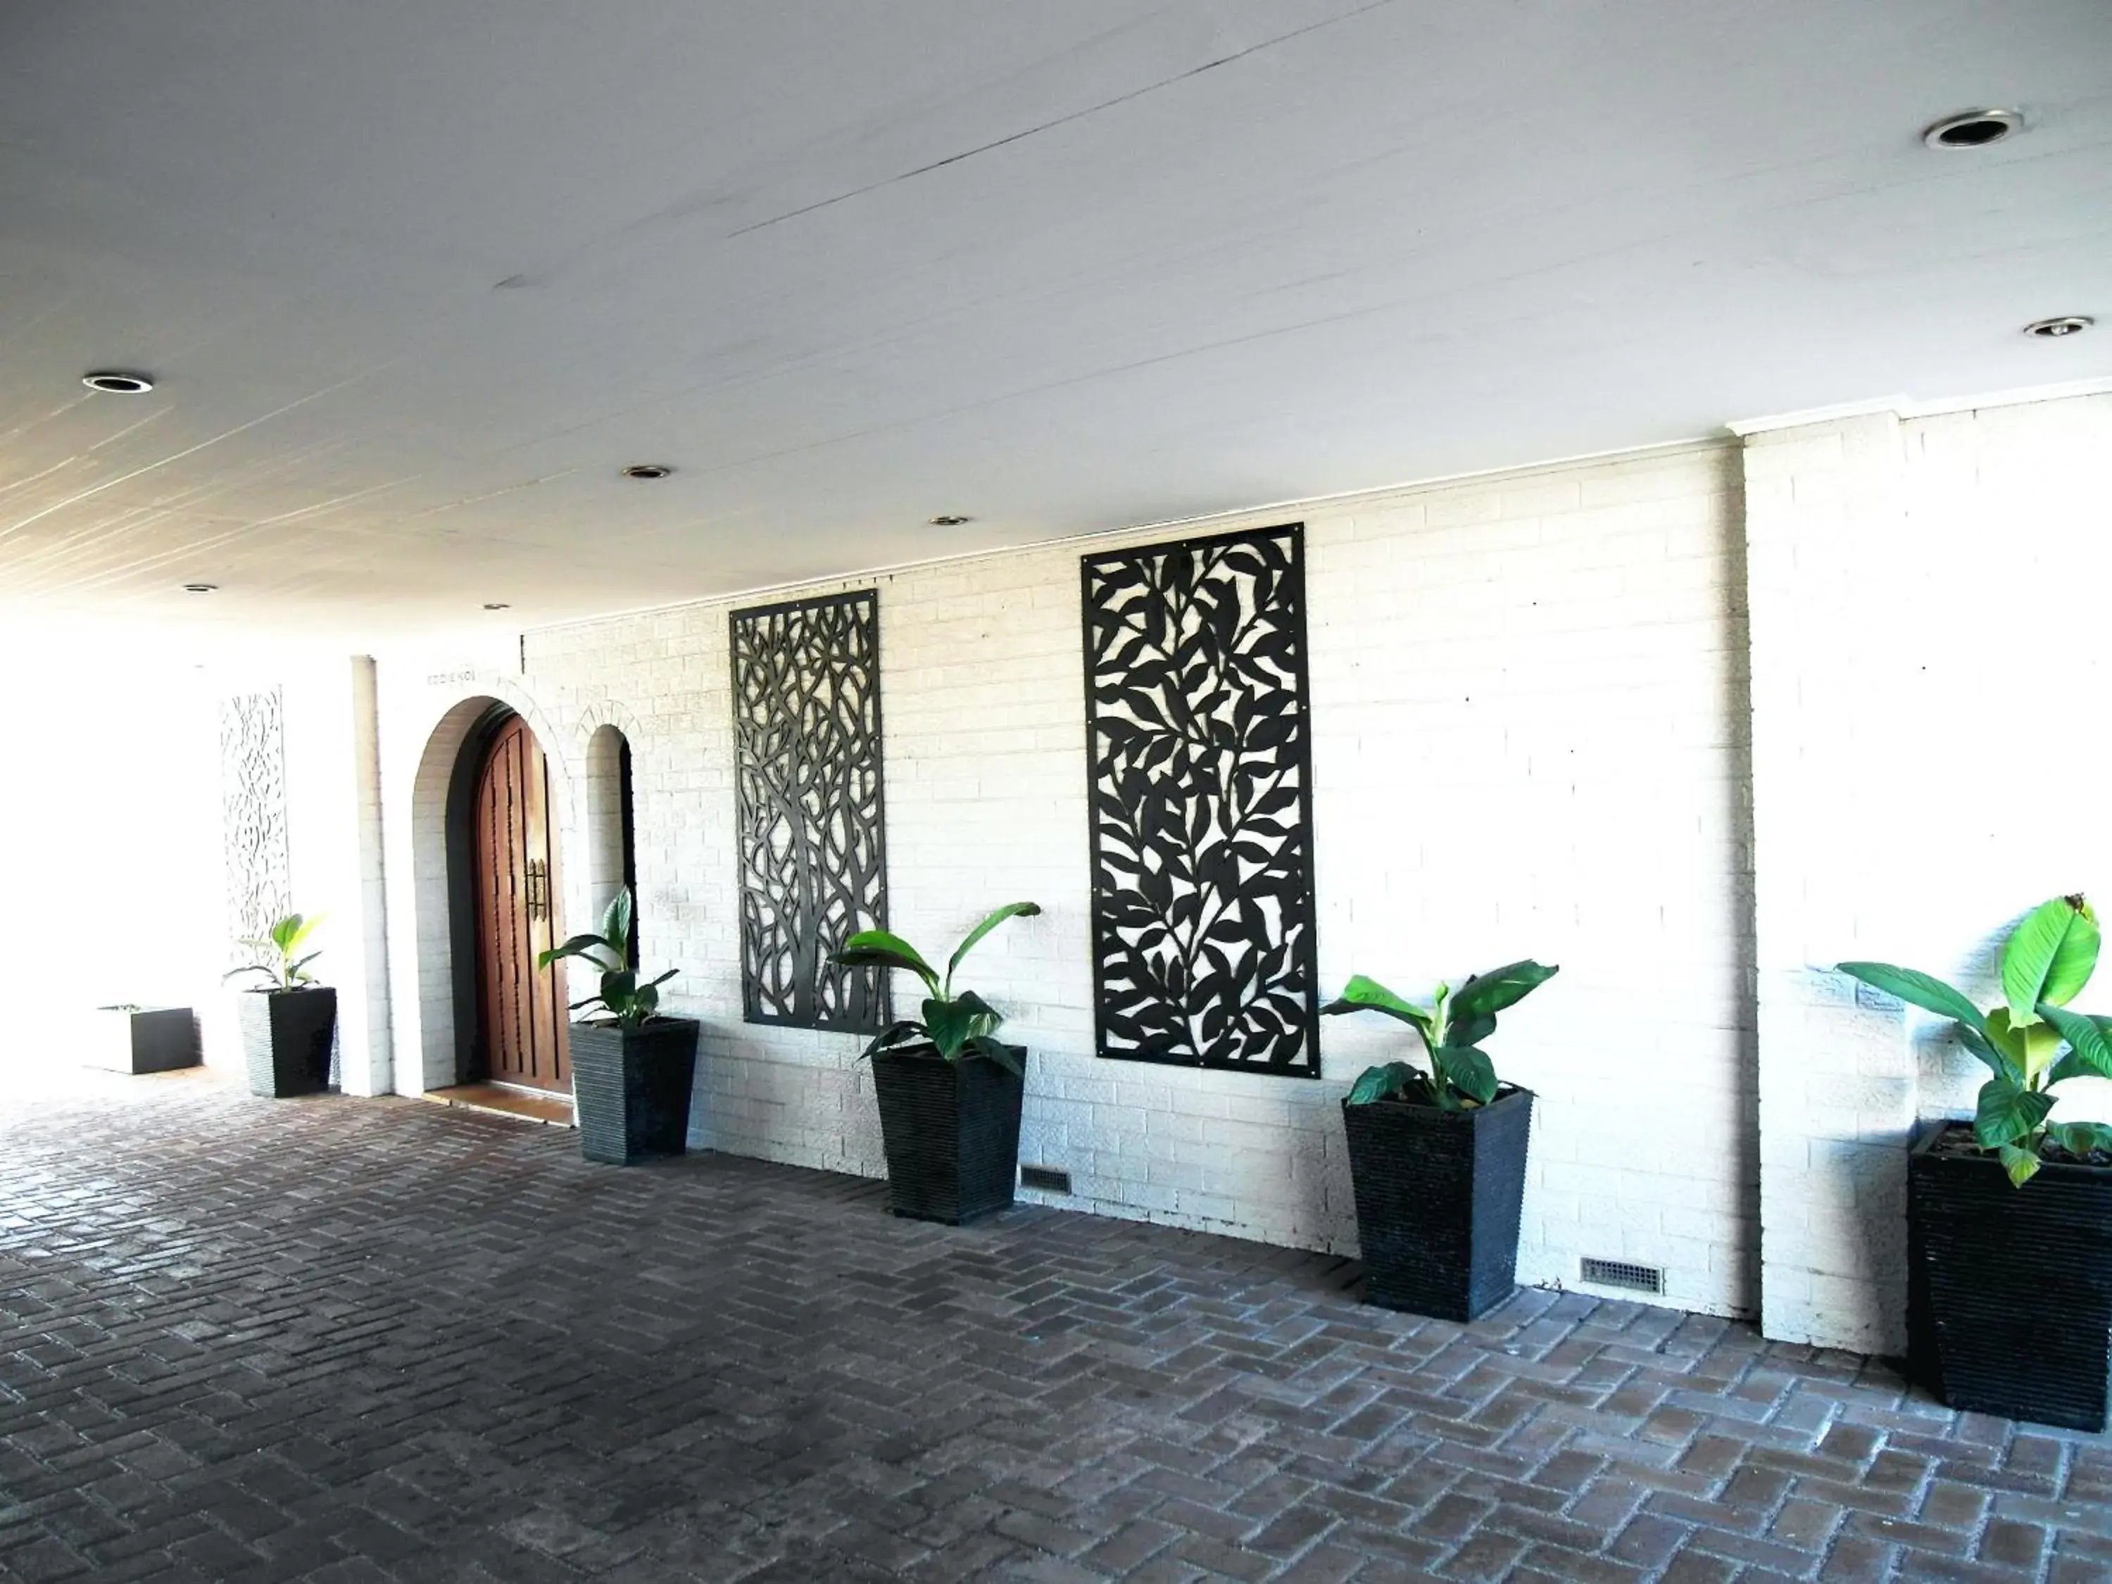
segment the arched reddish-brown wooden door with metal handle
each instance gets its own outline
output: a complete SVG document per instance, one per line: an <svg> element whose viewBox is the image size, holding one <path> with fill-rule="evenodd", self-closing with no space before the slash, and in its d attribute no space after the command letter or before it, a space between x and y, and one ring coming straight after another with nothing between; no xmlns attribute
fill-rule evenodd
<svg viewBox="0 0 2112 1584"><path fill-rule="evenodd" d="M564 965L534 965L555 942L549 769L520 716L498 729L477 775L475 853L477 1014L488 1077L568 1092Z"/></svg>

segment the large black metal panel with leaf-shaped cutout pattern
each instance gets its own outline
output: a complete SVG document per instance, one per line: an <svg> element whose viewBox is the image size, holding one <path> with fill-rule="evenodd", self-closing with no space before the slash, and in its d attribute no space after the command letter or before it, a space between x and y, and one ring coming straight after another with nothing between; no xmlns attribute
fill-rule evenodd
<svg viewBox="0 0 2112 1584"><path fill-rule="evenodd" d="M1303 545L1083 558L1100 1056L1320 1077Z"/></svg>

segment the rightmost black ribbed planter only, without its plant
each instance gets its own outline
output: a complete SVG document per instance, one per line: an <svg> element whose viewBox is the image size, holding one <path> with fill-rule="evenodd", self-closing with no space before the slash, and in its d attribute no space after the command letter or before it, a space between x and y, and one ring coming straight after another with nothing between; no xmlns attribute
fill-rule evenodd
<svg viewBox="0 0 2112 1584"><path fill-rule="evenodd" d="M2112 1166L2049 1159L2023 1187L1973 1126L1907 1157L1909 1364L1954 1409L2106 1428Z"/></svg>

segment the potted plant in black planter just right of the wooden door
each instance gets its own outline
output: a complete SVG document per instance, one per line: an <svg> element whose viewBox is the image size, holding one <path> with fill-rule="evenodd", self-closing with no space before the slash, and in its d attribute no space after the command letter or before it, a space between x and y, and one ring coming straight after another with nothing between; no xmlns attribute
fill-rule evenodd
<svg viewBox="0 0 2112 1584"><path fill-rule="evenodd" d="M602 974L600 991L570 1010L602 1007L608 1014L572 1024L579 1153L610 1166L684 1153L689 1094L697 1079L697 1020L659 1016L659 986L676 969L638 982L629 887L617 891L602 914L602 934L551 946L536 957L536 967L549 967L560 957L579 957Z"/></svg>

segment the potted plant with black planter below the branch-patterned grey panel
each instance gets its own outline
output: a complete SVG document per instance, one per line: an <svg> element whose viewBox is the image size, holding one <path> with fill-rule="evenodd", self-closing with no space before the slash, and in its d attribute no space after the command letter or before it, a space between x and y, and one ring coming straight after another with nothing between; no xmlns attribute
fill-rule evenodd
<svg viewBox="0 0 2112 1584"><path fill-rule="evenodd" d="M1012 1204L1020 1176L1020 1096L1026 1050L997 1041L1005 1020L974 991L953 993L961 959L1005 919L1041 912L1007 902L967 931L938 972L900 936L862 929L834 961L900 967L925 982L921 1018L889 1024L866 1045L881 1102L887 1187L898 1217L961 1225Z"/></svg>

